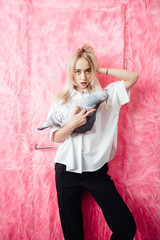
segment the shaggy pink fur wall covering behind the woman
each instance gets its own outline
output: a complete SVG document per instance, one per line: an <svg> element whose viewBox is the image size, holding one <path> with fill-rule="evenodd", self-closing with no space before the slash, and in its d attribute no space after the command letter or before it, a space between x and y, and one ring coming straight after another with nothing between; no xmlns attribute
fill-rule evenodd
<svg viewBox="0 0 160 240"><path fill-rule="evenodd" d="M160 1L0 1L0 239L63 240L47 130L69 56L90 43L100 65L139 73L121 109L110 174L132 211L135 240L160 239ZM125 61L124 61L125 59ZM111 77L99 75L102 86ZM99 207L83 196L85 240L109 240Z"/></svg>

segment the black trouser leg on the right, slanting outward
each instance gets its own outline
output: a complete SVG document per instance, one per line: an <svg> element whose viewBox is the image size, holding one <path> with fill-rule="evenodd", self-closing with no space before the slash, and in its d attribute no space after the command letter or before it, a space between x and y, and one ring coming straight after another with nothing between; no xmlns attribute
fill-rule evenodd
<svg viewBox="0 0 160 240"><path fill-rule="evenodd" d="M112 240L132 240L136 233L134 218L115 188L114 182L106 174L105 165L92 177L87 176L86 188L102 209L103 215L113 232Z"/></svg>

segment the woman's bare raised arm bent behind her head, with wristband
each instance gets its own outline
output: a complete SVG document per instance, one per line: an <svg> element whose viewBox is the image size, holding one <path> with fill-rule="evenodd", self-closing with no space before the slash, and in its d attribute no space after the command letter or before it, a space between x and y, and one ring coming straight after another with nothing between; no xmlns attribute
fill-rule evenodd
<svg viewBox="0 0 160 240"><path fill-rule="evenodd" d="M129 70L98 67L97 72L124 80L127 91L138 81L138 74Z"/></svg>

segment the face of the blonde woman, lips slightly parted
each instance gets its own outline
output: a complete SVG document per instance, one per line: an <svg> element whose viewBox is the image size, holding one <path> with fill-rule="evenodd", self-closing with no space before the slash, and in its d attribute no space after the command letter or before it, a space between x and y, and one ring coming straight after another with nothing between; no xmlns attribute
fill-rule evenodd
<svg viewBox="0 0 160 240"><path fill-rule="evenodd" d="M75 89L77 91L82 92L87 88L91 79L91 66L84 57L81 57L76 62L73 78L76 83Z"/></svg>

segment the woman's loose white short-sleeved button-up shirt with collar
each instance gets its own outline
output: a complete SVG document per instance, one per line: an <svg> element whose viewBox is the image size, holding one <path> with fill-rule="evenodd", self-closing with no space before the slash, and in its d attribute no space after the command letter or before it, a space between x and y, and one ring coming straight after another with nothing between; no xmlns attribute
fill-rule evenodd
<svg viewBox="0 0 160 240"><path fill-rule="evenodd" d="M126 92L123 80L111 83L105 89L109 94L108 104L96 111L93 128L85 133L72 133L58 148L54 162L66 165L67 171L96 171L116 154L119 111L122 105L130 101L130 93ZM83 92L74 90L72 99L88 94L87 89ZM48 116L54 107L51 106ZM50 139L57 129L59 127L50 128Z"/></svg>

